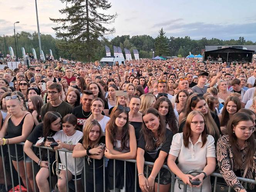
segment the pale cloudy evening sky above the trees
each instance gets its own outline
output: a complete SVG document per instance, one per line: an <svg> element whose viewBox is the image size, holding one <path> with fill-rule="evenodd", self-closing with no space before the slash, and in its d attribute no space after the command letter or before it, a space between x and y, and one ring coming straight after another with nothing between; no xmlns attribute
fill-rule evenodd
<svg viewBox="0 0 256 192"><path fill-rule="evenodd" d="M117 13L114 26L117 35L151 35L157 37L163 27L167 37L190 36L192 39L219 38L256 42L256 1L246 0L109 0L108 13ZM16 31L37 30L35 0L0 0L0 35L13 35ZM65 4L59 0L37 0L40 32L51 34L55 27L49 17L62 17L59 9Z"/></svg>

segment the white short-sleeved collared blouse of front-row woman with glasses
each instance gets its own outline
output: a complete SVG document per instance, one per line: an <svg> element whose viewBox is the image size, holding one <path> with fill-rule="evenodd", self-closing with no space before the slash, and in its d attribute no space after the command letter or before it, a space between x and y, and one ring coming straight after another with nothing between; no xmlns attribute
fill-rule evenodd
<svg viewBox="0 0 256 192"><path fill-rule="evenodd" d="M199 136L199 140L192 144L192 141L189 138L189 146L185 147L183 142L183 133L177 133L172 138L172 145L170 147L169 154L177 157L179 169L186 173L192 169L204 170L205 165L207 164L207 157L215 157L215 146L214 146L214 138L211 135L207 136L207 141L202 147L202 137ZM175 182L174 192L183 192L183 185L180 185L182 189L179 189L179 184L177 180ZM187 187L187 192L190 192L190 187ZM192 187L193 192L200 191L200 188ZM203 192L211 192L211 182L210 177L207 177L203 181Z"/></svg>

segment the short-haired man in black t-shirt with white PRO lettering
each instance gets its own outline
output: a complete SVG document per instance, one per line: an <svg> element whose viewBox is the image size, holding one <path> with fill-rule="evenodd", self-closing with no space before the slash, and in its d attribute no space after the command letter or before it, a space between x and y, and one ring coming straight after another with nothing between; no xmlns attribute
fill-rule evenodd
<svg viewBox="0 0 256 192"><path fill-rule="evenodd" d="M91 102L93 101L93 91L85 90L81 97L81 105L73 109L72 114L77 118L77 127L83 130L84 121L91 115Z"/></svg>

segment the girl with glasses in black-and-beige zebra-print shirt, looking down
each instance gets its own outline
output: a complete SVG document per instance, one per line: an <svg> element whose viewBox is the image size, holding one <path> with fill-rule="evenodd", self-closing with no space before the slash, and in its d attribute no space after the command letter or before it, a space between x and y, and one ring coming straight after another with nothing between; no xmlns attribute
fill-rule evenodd
<svg viewBox="0 0 256 192"><path fill-rule="evenodd" d="M237 177L256 179L256 144L254 121L246 113L236 113L227 124L227 134L217 142L217 162L227 185L239 192L254 192L254 185L239 182ZM225 183L225 182L223 182Z"/></svg>

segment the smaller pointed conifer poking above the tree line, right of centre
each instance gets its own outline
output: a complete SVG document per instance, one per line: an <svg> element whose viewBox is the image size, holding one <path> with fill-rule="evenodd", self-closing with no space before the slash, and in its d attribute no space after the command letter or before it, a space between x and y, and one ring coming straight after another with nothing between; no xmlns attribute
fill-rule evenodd
<svg viewBox="0 0 256 192"><path fill-rule="evenodd" d="M168 56L170 54L169 39L165 36L163 28L159 31L157 38L155 38L155 52L155 55L158 56Z"/></svg>

